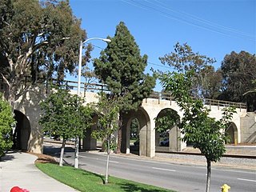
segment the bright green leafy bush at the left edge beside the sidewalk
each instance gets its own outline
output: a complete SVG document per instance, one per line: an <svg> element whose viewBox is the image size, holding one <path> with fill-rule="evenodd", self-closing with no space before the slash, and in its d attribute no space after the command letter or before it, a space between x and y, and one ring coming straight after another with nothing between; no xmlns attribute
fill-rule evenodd
<svg viewBox="0 0 256 192"><path fill-rule="evenodd" d="M0 158L13 145L11 135L15 123L10 104L0 94Z"/></svg>

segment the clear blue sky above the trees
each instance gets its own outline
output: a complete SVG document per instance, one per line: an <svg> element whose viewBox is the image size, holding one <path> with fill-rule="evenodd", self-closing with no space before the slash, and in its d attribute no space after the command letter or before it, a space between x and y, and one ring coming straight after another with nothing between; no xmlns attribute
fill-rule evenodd
<svg viewBox="0 0 256 192"><path fill-rule="evenodd" d="M125 22L141 55L148 55L146 73L151 67L170 69L158 58L174 51L176 42L215 58L215 69L233 50L256 53L255 0L70 0L70 6L88 38L113 37L118 23ZM106 42L91 43L106 47ZM98 47L93 58L99 56Z"/></svg>

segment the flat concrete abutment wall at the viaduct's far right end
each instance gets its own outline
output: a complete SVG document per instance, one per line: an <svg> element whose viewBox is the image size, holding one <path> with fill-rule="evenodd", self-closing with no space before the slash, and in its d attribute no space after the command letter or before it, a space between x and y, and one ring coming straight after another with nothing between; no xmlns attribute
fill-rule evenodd
<svg viewBox="0 0 256 192"><path fill-rule="evenodd" d="M256 113L248 112L241 118L241 142L256 143Z"/></svg>

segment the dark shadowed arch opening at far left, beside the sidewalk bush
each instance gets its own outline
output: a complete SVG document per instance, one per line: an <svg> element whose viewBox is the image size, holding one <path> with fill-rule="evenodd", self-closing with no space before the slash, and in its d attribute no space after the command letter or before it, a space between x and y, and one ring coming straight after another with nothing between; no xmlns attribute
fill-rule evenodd
<svg viewBox="0 0 256 192"><path fill-rule="evenodd" d="M13 133L13 148L15 150L29 150L31 133L30 121L26 115L19 110L14 110L14 118L17 123Z"/></svg>

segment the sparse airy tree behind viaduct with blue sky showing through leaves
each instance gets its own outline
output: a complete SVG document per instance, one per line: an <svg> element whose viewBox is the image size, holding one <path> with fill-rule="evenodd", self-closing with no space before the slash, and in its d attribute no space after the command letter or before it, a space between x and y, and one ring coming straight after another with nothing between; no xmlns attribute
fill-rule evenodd
<svg viewBox="0 0 256 192"><path fill-rule="evenodd" d="M194 53L188 44L181 45L178 42L174 46L174 52L165 54L159 59L162 64L167 64L180 73L185 73L189 70L194 71L193 83L189 88L192 96L210 98L218 90L219 85L215 81L217 79L221 81L221 79L216 78L215 75L209 75L214 73L214 67L211 64L215 60L206 55ZM161 71L159 72L161 73ZM213 79L214 82L212 82Z"/></svg>

